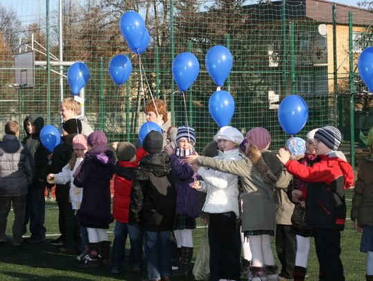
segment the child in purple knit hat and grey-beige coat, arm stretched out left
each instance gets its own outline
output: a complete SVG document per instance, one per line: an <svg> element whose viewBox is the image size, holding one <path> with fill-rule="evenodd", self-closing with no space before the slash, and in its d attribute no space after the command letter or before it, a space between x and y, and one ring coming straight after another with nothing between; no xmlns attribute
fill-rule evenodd
<svg viewBox="0 0 373 281"><path fill-rule="evenodd" d="M242 231L249 237L252 264L249 280L277 280L278 268L271 251L270 235L276 227L274 188L288 186L291 177L283 173L276 156L267 151L271 141L265 128L254 128L247 133L246 156L235 161L198 157L205 166L241 177L243 196ZM259 150L258 148L262 148ZM191 157L191 162L195 159ZM199 171L198 171L199 173Z"/></svg>

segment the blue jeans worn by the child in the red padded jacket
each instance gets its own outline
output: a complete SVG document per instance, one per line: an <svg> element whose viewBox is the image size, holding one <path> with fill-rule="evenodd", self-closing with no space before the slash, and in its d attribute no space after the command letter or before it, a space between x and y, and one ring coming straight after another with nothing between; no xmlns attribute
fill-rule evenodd
<svg viewBox="0 0 373 281"><path fill-rule="evenodd" d="M122 267L127 235L131 242L129 262L131 269L142 267L142 240L143 232L138 226L125 222L116 222L114 229L113 250L111 252L111 267Z"/></svg>

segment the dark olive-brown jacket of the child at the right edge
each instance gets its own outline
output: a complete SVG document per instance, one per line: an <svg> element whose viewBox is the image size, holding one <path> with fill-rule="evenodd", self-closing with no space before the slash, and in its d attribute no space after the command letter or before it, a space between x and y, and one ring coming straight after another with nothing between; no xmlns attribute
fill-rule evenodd
<svg viewBox="0 0 373 281"><path fill-rule="evenodd" d="M352 197L351 220L359 226L373 226L373 159L365 158L358 166L358 177Z"/></svg>

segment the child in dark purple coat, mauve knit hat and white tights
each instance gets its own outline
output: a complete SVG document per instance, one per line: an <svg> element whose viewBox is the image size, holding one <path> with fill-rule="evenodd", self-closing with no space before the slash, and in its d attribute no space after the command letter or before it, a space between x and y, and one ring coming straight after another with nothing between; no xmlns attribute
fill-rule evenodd
<svg viewBox="0 0 373 281"><path fill-rule="evenodd" d="M74 184L83 188L83 199L77 211L77 220L88 231L88 251L78 267L101 267L109 263L108 241L111 214L110 180L114 173L115 157L107 146L108 139L101 130L88 135L88 151L74 173Z"/></svg>

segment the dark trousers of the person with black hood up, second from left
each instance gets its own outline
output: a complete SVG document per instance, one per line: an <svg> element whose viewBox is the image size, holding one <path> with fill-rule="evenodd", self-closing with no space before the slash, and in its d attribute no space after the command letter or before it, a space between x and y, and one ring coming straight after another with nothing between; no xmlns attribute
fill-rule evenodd
<svg viewBox="0 0 373 281"><path fill-rule="evenodd" d="M46 238L44 221L46 218L46 199L44 191L46 184L36 181L28 188L26 215L23 224L23 233L27 231L27 224L30 221L31 237L35 239Z"/></svg>

